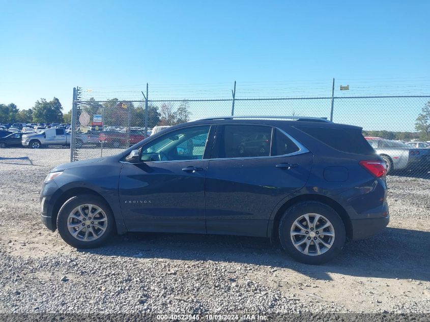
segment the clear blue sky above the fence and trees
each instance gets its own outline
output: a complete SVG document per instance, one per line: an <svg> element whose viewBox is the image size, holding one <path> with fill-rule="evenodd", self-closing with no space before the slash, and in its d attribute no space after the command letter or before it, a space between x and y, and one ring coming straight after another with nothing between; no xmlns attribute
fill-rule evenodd
<svg viewBox="0 0 430 322"><path fill-rule="evenodd" d="M336 88L350 84L349 95L430 93L425 0L0 0L0 8L0 103L20 109L55 96L66 112L76 85L87 96L132 98L147 82L151 98L231 98L235 80L237 97L331 95L333 77Z"/></svg>

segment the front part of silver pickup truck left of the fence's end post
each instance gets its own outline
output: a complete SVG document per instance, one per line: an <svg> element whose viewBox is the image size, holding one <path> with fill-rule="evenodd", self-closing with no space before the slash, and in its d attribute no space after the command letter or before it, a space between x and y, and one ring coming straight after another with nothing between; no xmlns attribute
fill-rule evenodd
<svg viewBox="0 0 430 322"><path fill-rule="evenodd" d="M64 129L46 129L39 133L22 135L22 145L39 149L43 145L70 145L70 134Z"/></svg>

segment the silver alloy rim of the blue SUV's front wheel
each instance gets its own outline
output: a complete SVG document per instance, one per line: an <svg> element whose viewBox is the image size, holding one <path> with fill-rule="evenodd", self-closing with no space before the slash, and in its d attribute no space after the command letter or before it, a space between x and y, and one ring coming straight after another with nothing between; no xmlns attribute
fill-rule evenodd
<svg viewBox="0 0 430 322"><path fill-rule="evenodd" d="M81 204L70 212L67 228L77 240L94 241L106 231L106 213L95 204Z"/></svg>

